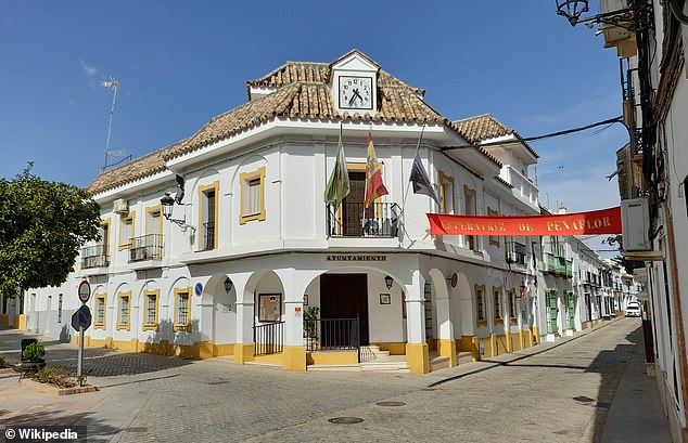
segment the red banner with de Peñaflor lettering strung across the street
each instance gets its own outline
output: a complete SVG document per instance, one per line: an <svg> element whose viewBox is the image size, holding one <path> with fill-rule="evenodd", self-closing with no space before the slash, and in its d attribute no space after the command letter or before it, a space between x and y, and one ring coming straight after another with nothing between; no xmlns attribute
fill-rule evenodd
<svg viewBox="0 0 688 443"><path fill-rule="evenodd" d="M429 213L433 235L594 235L621 234L621 208L561 216L449 216Z"/></svg>

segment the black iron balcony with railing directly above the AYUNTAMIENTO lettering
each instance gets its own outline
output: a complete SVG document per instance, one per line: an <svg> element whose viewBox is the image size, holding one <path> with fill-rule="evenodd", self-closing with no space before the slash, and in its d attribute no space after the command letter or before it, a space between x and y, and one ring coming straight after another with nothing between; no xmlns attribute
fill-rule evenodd
<svg viewBox="0 0 688 443"><path fill-rule="evenodd" d="M396 237L402 209L395 203L342 203L337 211L328 205L328 235L331 237Z"/></svg>

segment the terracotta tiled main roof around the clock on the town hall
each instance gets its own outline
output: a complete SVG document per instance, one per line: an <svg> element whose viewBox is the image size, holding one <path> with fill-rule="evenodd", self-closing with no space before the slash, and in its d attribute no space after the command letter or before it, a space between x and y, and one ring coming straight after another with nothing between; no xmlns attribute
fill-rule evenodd
<svg viewBox="0 0 688 443"><path fill-rule="evenodd" d="M165 161L169 159L275 118L444 123L470 143L477 140L475 135L472 135L473 139L470 138L472 125L467 122L471 119L459 122L449 121L422 100L424 94L422 89L412 88L384 70L379 70L378 74L379 106L374 115L368 113L340 115L334 108L329 84L330 66L324 63L288 62L267 76L249 81L249 89L262 87L275 89L275 91L213 118L189 139L101 173L88 190L98 194L160 172L165 169ZM487 151L477 148L492 161L501 166Z"/></svg>

